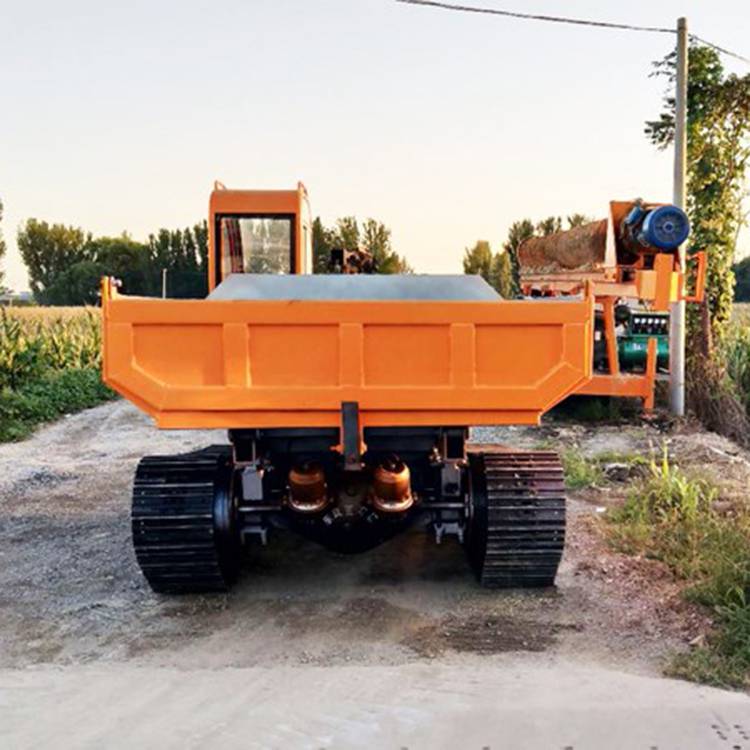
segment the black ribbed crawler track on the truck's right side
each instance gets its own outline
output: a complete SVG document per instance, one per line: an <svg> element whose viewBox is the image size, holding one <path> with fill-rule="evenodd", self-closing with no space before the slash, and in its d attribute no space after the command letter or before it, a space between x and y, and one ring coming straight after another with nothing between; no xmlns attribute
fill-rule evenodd
<svg viewBox="0 0 750 750"><path fill-rule="evenodd" d="M469 456L469 560L488 588L552 586L565 546L556 453Z"/></svg>

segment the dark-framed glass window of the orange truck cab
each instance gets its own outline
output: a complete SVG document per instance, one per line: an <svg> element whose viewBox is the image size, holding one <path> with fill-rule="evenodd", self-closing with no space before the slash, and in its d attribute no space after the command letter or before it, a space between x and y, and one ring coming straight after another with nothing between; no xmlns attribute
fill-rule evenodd
<svg viewBox="0 0 750 750"><path fill-rule="evenodd" d="M293 273L291 216L221 216L222 277L232 273Z"/></svg>

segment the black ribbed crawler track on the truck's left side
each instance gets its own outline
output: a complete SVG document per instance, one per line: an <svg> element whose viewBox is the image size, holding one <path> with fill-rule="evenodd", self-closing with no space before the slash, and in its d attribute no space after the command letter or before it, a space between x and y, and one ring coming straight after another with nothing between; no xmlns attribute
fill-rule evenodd
<svg viewBox="0 0 750 750"><path fill-rule="evenodd" d="M136 559L159 593L226 591L240 567L231 450L148 456L133 483Z"/></svg>

